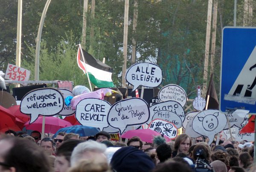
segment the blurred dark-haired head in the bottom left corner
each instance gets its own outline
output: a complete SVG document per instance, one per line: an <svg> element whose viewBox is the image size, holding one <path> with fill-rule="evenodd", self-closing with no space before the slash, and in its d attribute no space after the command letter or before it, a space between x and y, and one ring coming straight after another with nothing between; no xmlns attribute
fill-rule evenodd
<svg viewBox="0 0 256 172"><path fill-rule="evenodd" d="M35 143L16 137L0 140L0 171L49 172L47 155Z"/></svg>

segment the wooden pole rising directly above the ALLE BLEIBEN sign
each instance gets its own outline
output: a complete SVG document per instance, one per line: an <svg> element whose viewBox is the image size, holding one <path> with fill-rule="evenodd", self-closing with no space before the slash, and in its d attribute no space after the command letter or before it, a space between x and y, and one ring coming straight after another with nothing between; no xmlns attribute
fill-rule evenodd
<svg viewBox="0 0 256 172"><path fill-rule="evenodd" d="M131 49L131 65L136 63L136 40L134 35L136 34L138 20L138 2L134 0L134 19L133 19L133 28L132 28L132 49Z"/></svg>

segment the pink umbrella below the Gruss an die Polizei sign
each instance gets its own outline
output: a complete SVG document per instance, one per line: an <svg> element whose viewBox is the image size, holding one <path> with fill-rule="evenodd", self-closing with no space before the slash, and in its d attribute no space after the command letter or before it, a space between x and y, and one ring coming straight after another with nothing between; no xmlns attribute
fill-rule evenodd
<svg viewBox="0 0 256 172"><path fill-rule="evenodd" d="M155 132L154 130L151 129L135 129L135 130L129 130L122 134L120 137L121 138L132 138L134 136L139 137L142 141L152 143L154 136L161 135L159 132ZM164 138L167 141L170 141L170 139L166 136Z"/></svg>

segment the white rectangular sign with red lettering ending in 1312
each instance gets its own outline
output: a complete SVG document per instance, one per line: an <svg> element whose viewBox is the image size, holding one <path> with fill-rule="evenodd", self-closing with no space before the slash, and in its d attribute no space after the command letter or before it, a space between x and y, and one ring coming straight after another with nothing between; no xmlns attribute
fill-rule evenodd
<svg viewBox="0 0 256 172"><path fill-rule="evenodd" d="M29 70L8 63L4 78L7 80L24 81L29 80L29 76Z"/></svg>

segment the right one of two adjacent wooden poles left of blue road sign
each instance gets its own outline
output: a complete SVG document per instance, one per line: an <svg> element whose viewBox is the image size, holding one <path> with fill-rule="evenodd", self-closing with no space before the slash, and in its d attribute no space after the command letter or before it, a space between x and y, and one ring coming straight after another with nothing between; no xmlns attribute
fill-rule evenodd
<svg viewBox="0 0 256 172"><path fill-rule="evenodd" d="M216 46L216 28L217 28L218 0L214 0L212 17L212 48L211 48L211 74L214 69L215 46Z"/></svg>

